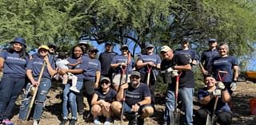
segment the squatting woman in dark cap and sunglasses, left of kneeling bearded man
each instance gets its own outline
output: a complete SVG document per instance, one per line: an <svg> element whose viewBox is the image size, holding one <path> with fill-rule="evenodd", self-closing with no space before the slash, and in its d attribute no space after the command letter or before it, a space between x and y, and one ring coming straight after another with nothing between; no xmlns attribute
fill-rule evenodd
<svg viewBox="0 0 256 125"><path fill-rule="evenodd" d="M109 125L112 121L110 104L116 96L114 89L110 88L110 79L108 77L103 77L100 81L99 89L96 89L94 96L91 100L91 114L94 117L95 124L101 124L98 116L103 115L106 118L104 125Z"/></svg>

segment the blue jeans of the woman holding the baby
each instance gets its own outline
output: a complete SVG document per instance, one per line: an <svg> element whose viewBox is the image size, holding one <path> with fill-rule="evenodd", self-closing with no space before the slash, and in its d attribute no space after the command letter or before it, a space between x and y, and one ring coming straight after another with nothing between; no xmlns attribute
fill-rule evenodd
<svg viewBox="0 0 256 125"><path fill-rule="evenodd" d="M78 90L82 89L82 84L83 84L83 81L77 82ZM65 85L63 89L63 104L62 104L63 118L68 117L69 111L68 111L67 103L69 102L72 119L77 119L78 107L76 102L76 93L70 91L70 86L71 86L71 83L68 83Z"/></svg>

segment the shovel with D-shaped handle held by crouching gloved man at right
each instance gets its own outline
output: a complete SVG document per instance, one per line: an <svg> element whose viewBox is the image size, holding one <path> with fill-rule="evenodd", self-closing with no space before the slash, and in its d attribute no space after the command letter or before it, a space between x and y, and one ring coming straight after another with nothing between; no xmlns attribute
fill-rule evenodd
<svg viewBox="0 0 256 125"><path fill-rule="evenodd" d="M227 73L228 72L226 72L226 71L218 71L218 79L222 82L224 80L225 76L227 75ZM206 125L214 125L215 117L216 117L215 111L216 111L217 104L218 104L218 96L215 97L214 111L212 112L211 117L209 114L207 115Z"/></svg>

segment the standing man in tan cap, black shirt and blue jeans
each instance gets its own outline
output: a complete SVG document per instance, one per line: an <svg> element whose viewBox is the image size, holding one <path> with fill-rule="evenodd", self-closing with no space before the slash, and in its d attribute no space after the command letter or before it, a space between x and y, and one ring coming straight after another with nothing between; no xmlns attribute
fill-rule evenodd
<svg viewBox="0 0 256 125"><path fill-rule="evenodd" d="M185 116L183 117L184 124L193 124L193 95L194 95L194 77L193 72L191 71L191 64L187 60L184 54L175 54L173 50L170 49L168 45L164 45L161 48L161 72L163 73L171 73L172 77L164 78L168 81L167 95L166 95L166 110L164 113L164 122L170 123L170 115L174 111L174 101L175 101L175 83L177 80L178 74L181 74L179 78L178 85L178 95L180 100L182 101L182 107L185 112ZM174 73L174 71L178 72Z"/></svg>

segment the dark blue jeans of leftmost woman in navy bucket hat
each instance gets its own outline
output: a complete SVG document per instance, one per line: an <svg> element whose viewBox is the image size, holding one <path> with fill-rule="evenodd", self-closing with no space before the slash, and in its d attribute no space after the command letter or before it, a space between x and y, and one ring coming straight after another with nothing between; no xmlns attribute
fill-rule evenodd
<svg viewBox="0 0 256 125"><path fill-rule="evenodd" d="M15 101L24 84L25 78L2 76L0 83L0 120L11 118Z"/></svg>

